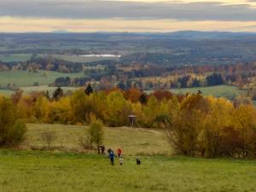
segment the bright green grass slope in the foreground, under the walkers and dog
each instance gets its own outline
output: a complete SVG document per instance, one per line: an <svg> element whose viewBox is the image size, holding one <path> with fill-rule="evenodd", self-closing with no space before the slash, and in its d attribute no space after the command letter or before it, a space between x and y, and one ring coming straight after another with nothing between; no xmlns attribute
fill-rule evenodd
<svg viewBox="0 0 256 192"><path fill-rule="evenodd" d="M255 191L255 160L0 150L0 192Z"/></svg>

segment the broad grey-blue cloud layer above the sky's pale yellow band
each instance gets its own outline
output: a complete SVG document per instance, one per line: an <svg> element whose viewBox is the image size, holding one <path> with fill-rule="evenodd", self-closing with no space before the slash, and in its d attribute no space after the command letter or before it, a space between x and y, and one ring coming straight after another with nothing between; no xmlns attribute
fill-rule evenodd
<svg viewBox="0 0 256 192"><path fill-rule="evenodd" d="M222 3L132 3L82 0L1 0L1 16L149 20L256 20L249 5Z"/></svg>

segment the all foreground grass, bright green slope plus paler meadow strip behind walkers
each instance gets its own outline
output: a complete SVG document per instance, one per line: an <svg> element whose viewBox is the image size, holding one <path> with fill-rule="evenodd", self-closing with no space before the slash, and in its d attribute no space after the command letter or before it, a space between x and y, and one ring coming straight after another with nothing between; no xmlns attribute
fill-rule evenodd
<svg viewBox="0 0 256 192"><path fill-rule="evenodd" d="M86 126L30 124L27 139L39 146L39 136L49 129L56 131L55 146L77 148L77 138L84 128ZM166 153L162 151L165 148L171 150L161 131L106 128L105 144L124 148L123 166L119 166L117 160L110 166L107 155L2 149L0 192L239 192L256 189L256 160L159 155ZM142 155L142 151L146 153ZM141 166L136 165L137 157L142 160Z"/></svg>

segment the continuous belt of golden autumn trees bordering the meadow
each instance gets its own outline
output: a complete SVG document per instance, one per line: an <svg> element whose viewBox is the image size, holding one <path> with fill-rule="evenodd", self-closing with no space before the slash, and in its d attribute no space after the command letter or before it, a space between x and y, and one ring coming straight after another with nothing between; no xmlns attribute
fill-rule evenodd
<svg viewBox="0 0 256 192"><path fill-rule="evenodd" d="M246 103L234 104L224 98L197 94L177 96L166 90L152 94L141 90L76 90L54 96L16 92L0 97L0 145L19 143L25 123L89 125L95 116L104 125L129 125L163 129L177 153L203 157L255 157L256 109ZM16 134L18 134L16 136ZM14 139L9 139L14 137Z"/></svg>

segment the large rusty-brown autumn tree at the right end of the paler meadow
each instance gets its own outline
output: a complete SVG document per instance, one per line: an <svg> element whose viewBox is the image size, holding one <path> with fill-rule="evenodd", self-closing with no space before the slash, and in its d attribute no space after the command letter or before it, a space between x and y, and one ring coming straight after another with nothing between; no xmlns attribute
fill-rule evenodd
<svg viewBox="0 0 256 192"><path fill-rule="evenodd" d="M207 101L199 94L188 96L181 103L176 118L167 129L167 137L182 154L195 156L198 152L199 135L204 128L207 110Z"/></svg>

